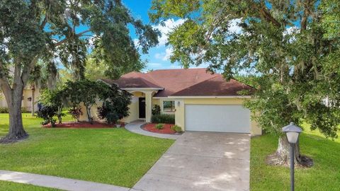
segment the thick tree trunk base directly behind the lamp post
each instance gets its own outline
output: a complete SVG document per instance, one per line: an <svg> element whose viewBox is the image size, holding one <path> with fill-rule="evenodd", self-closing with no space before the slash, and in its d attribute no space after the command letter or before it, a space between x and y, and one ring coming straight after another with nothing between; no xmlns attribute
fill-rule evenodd
<svg viewBox="0 0 340 191"><path fill-rule="evenodd" d="M271 154L267 157L267 163L272 165L288 166L290 164L290 144L287 137L282 136L278 138L278 149L275 154ZM294 163L297 166L310 167L313 165L311 158L302 156L300 154L299 141L294 145Z"/></svg>

